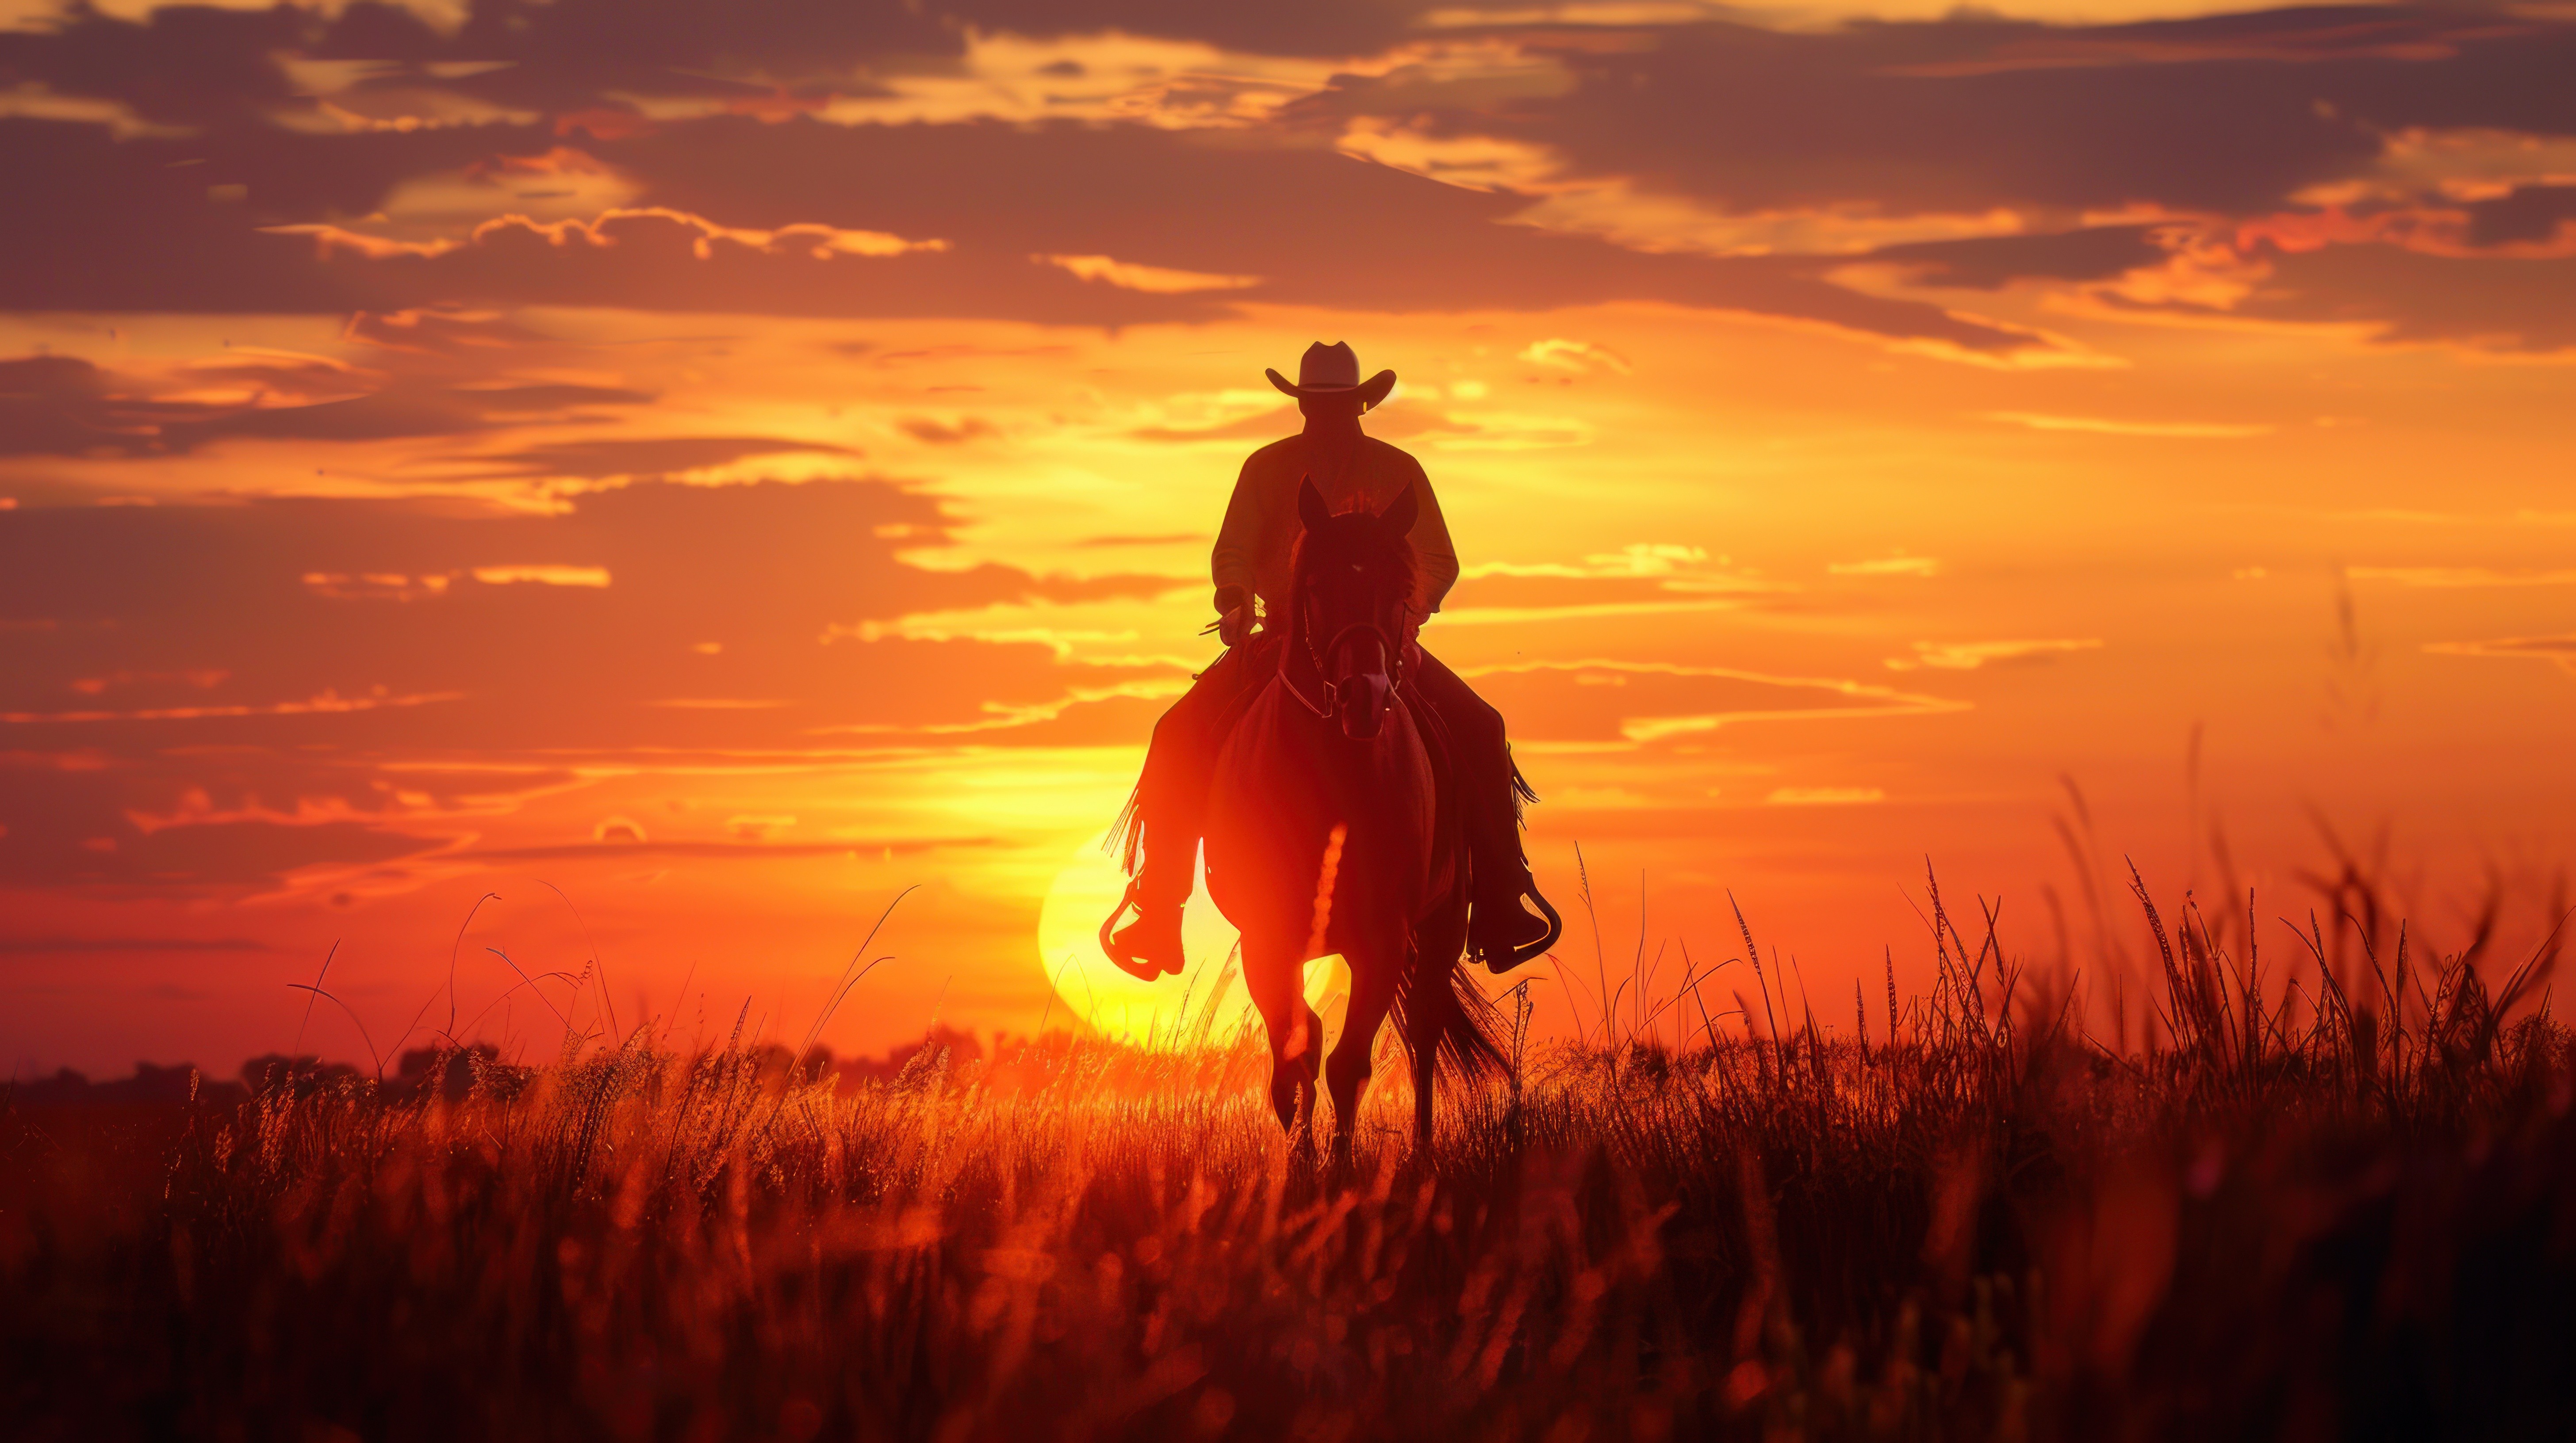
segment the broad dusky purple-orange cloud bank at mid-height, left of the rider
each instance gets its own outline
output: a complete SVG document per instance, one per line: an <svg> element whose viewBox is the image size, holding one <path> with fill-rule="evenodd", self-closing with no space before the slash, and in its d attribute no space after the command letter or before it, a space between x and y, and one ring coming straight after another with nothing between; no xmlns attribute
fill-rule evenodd
<svg viewBox="0 0 2576 1443"><path fill-rule="evenodd" d="M0 629L0 884L188 894L417 866L497 801L567 786L562 758L811 758L848 745L832 729L884 745L1180 675L1066 665L1041 642L855 636L1172 585L907 559L953 526L873 479L636 482L559 513L5 510L0 618L46 626ZM672 696L778 706L654 706Z"/></svg>

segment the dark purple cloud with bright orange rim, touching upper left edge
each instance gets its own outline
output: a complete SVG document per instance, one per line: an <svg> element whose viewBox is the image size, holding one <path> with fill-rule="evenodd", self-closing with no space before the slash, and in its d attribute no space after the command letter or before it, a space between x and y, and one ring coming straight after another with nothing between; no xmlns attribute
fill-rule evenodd
<svg viewBox="0 0 2576 1443"><path fill-rule="evenodd" d="M471 137L474 149L507 152L549 139L536 129L500 129ZM227 209L206 201L204 180L167 180L204 175L170 170L196 147L116 144L98 126L0 121L0 188L26 214L52 216L46 227L13 227L0 237L0 307L381 314L605 304L1056 325L1208 314L1206 301L1092 286L1030 263L1025 237L1007 253L958 255L933 245L935 237L896 247L878 242L891 232L811 216L744 227L639 206L587 222L495 216L461 237L379 237L322 216L368 214L402 175L456 155L363 142L371 137L250 134L245 149L263 157L263 173L317 152L312 165L348 183L337 196L317 193L312 178L286 178L276 193L252 183L250 201Z"/></svg>

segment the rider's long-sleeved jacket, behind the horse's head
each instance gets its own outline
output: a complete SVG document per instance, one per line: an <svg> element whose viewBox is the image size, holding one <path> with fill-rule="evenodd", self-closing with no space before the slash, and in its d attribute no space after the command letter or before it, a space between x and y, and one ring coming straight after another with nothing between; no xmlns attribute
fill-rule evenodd
<svg viewBox="0 0 2576 1443"><path fill-rule="evenodd" d="M1386 510L1404 487L1414 487L1422 508L1409 533L1414 544L1414 621L1440 611L1440 598L1458 580L1458 551L1448 539L1448 521L1440 518L1440 500L1432 495L1422 461L1378 441L1360 435L1358 443L1316 441L1309 433L1273 441L1244 459L1244 474L1234 479L1234 500L1226 502L1226 526L1216 533L1216 551L1208 569L1216 590L1247 588L1262 598L1270 616L1288 603L1291 562L1303 523L1296 515L1296 487L1303 479L1324 492L1324 505L1334 513L1368 508Z"/></svg>

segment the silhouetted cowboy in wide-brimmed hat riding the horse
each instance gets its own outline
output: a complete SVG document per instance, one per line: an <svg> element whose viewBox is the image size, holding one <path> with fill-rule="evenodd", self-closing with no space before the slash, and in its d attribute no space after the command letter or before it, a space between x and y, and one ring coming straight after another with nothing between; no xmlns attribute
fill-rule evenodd
<svg viewBox="0 0 2576 1443"><path fill-rule="evenodd" d="M1406 691L1448 734L1450 773L1461 788L1471 879L1468 956L1494 971L1517 966L1528 961L1525 951L1548 935L1548 922L1520 904L1522 897L1538 897L1538 884L1520 853L1517 796L1525 791L1517 791L1520 778L1512 770L1502 714L1417 639L1422 621L1440 611L1440 598L1458 580L1458 551L1450 546L1448 523L1440 518L1422 464L1360 433L1360 415L1386 399L1396 374L1378 371L1363 381L1358 353L1345 343L1321 340L1298 361L1296 384L1278 371L1265 374L1273 387L1296 397L1306 430L1255 451L1234 482L1226 523L1208 557L1216 577L1216 631L1226 652L1154 724L1144 781L1136 783L1136 830L1128 832L1126 861L1136 879L1110 915L1115 922L1133 907L1136 920L1115 935L1103 928L1103 946L1110 961L1146 982L1182 969L1180 912L1190 899L1198 863L1208 778L1236 703L1278 670L1280 629L1255 631L1252 624L1255 616L1283 616L1296 541L1303 533L1298 484L1314 482L1334 513L1381 513L1406 487L1419 502L1409 531L1417 582L1404 626Z"/></svg>

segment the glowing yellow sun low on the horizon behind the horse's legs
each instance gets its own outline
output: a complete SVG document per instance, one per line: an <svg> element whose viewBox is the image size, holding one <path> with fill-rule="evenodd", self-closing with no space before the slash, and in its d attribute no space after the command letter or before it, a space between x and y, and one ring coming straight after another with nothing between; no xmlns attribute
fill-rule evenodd
<svg viewBox="0 0 2576 1443"><path fill-rule="evenodd" d="M1159 1046L1224 1044L1239 1028L1260 1026L1252 995L1244 992L1234 925L1208 897L1206 874L1198 876L1180 922L1190 966L1162 982L1136 982L1100 953L1100 920L1118 904L1121 892L1126 874L1103 848L1103 837L1074 850L1046 889L1046 902L1038 907L1038 964L1064 1008L1103 1036ZM1329 1013L1337 1010L1334 992L1347 992L1340 977L1340 956L1306 964L1306 1000L1316 1013L1327 1013L1327 1031Z"/></svg>

